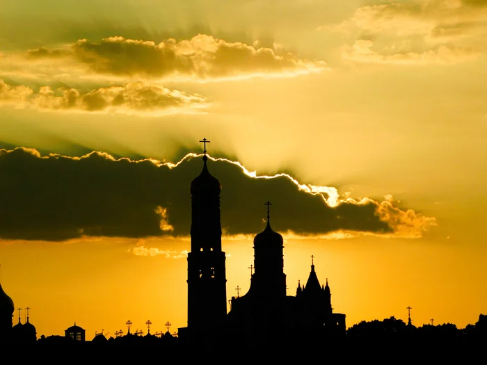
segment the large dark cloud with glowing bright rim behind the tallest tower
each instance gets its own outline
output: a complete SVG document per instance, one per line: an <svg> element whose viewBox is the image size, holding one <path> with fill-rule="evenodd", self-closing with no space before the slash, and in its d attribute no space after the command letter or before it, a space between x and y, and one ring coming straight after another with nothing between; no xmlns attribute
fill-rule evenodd
<svg viewBox="0 0 487 365"><path fill-rule="evenodd" d="M18 147L0 149L0 238L63 241L83 236L188 236L189 184L202 169L188 154L179 163L131 161L91 152L81 157ZM289 175L258 176L238 162L209 161L221 181L225 234L264 229L264 202L273 228L298 236L332 232L419 237L435 219L394 205L338 195L336 188L300 184ZM150 250L138 249L139 254ZM156 251L153 251L156 252Z"/></svg>

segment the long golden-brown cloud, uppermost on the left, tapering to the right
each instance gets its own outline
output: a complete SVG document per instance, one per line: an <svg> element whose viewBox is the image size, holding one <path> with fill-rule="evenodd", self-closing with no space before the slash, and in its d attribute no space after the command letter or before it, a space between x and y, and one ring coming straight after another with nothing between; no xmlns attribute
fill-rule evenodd
<svg viewBox="0 0 487 365"><path fill-rule="evenodd" d="M64 56L97 74L148 79L294 75L326 68L324 61L305 60L281 47L254 47L203 34L179 42L170 38L159 44L123 37L103 38L100 42L83 39L63 49L34 49L26 56L31 60Z"/></svg>

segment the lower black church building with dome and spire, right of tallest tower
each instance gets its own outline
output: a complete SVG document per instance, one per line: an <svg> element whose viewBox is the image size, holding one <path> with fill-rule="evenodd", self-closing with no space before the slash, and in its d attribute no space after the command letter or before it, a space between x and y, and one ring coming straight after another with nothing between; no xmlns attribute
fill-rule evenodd
<svg viewBox="0 0 487 365"><path fill-rule="evenodd" d="M243 296L232 297L228 314L227 330L240 340L302 339L308 337L340 337L346 332L344 314L334 314L331 307L331 292L328 286L319 284L312 257L308 281L298 282L296 296L286 293L284 273L284 240L271 228L267 202L267 225L254 238L255 273L251 274L250 289Z"/></svg>

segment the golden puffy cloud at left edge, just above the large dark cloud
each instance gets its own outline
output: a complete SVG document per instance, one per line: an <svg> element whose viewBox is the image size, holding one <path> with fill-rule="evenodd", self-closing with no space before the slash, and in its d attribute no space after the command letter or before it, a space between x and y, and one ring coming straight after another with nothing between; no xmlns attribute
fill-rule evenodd
<svg viewBox="0 0 487 365"><path fill-rule="evenodd" d="M205 99L178 90L142 82L97 88L81 93L75 88L53 90L42 86L34 92L28 86L9 86L0 79L0 104L36 108L40 111L79 111L86 113L146 113L160 115L206 108Z"/></svg>

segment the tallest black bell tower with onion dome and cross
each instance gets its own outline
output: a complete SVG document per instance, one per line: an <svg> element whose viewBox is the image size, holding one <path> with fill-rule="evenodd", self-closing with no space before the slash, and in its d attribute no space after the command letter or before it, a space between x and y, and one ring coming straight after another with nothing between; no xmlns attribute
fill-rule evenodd
<svg viewBox="0 0 487 365"><path fill-rule="evenodd" d="M188 254L188 330L208 332L223 325L227 315L225 252L221 250L221 184L207 168L191 182L191 252Z"/></svg>

